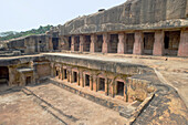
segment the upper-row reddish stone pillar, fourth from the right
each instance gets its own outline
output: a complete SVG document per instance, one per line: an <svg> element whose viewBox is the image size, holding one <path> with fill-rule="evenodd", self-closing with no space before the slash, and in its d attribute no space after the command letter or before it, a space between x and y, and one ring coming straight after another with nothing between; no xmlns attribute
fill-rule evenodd
<svg viewBox="0 0 188 125"><path fill-rule="evenodd" d="M124 33L118 34L118 45L117 45L117 53L124 54L126 52L126 35Z"/></svg>

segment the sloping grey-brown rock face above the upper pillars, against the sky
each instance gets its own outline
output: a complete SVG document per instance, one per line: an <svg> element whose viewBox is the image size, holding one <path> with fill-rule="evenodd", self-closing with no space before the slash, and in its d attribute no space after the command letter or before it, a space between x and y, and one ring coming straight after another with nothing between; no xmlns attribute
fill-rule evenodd
<svg viewBox="0 0 188 125"><path fill-rule="evenodd" d="M121 30L139 30L188 25L187 0L128 0L127 2L94 14L73 19L59 25L62 35ZM166 20L174 20L166 22ZM187 20L185 20L187 21ZM160 22L160 23L158 23ZM156 24L157 23L157 24ZM147 24L142 27L142 24ZM154 25L152 25L154 24Z"/></svg>

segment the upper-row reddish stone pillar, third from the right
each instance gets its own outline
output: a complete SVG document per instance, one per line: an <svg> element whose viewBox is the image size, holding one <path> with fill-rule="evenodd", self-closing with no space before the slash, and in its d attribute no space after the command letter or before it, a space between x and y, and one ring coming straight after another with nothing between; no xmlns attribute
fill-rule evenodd
<svg viewBox="0 0 188 125"><path fill-rule="evenodd" d="M133 54L142 55L144 52L144 34L140 31L135 32L135 43Z"/></svg>

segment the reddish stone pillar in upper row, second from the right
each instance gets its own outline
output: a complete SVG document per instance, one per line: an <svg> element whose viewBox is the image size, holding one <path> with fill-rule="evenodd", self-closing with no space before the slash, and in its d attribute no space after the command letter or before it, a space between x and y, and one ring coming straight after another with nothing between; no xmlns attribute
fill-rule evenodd
<svg viewBox="0 0 188 125"><path fill-rule="evenodd" d="M156 31L155 32L155 42L154 42L154 50L153 55L163 55L164 54L164 31Z"/></svg>

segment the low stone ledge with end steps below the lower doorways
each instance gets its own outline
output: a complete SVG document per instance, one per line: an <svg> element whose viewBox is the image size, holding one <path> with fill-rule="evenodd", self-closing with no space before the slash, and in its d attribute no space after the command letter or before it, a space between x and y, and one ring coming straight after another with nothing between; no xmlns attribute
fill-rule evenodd
<svg viewBox="0 0 188 125"><path fill-rule="evenodd" d="M126 103L118 100L119 97L109 97L102 92L93 92L87 87L77 86L76 83L69 83L67 81L62 81L59 79L49 77L50 82L54 85L58 85L66 91L70 91L74 94L77 94L84 98L87 98L94 103L97 103L102 106L112 108L119 113L121 116L129 118L129 123L133 123L136 117L147 107L148 103L154 97L154 94L150 94L144 102L138 103L137 101L133 103ZM138 105L135 107L134 105Z"/></svg>

